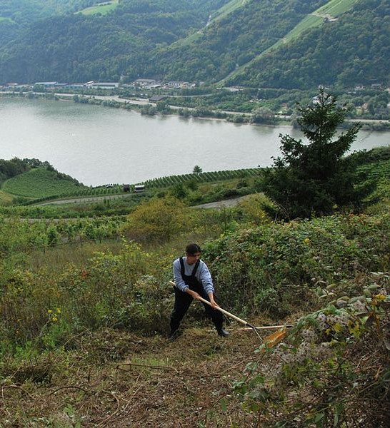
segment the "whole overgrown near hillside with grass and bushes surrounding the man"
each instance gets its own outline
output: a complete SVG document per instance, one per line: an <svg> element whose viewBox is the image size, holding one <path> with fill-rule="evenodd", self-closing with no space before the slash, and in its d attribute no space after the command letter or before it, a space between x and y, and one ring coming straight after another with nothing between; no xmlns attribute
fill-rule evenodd
<svg viewBox="0 0 390 428"><path fill-rule="evenodd" d="M128 215L32 221L4 208L2 426L386 427L390 202L378 153L361 213L276 222L261 194L194 210L186 198L199 189L177 184ZM169 342L171 263L191 241L221 307L292 327L259 338L226 318L222 339L194 303Z"/></svg>

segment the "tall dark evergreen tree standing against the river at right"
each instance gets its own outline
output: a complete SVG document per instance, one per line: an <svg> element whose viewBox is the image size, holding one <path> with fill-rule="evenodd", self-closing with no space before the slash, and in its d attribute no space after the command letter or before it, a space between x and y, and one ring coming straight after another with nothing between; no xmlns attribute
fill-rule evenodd
<svg viewBox="0 0 390 428"><path fill-rule="evenodd" d="M264 193L287 219L327 215L337 207L359 205L371 189L355 185L356 163L344 155L360 125L334 138L346 109L323 89L315 103L308 107L299 104L298 110L298 123L308 142L280 135L282 155L274 160L274 168L264 173Z"/></svg>

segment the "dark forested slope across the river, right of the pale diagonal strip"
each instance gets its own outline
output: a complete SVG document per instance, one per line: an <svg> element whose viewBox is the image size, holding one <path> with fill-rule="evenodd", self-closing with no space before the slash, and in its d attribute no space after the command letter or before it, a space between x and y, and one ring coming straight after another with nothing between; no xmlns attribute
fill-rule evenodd
<svg viewBox="0 0 390 428"><path fill-rule="evenodd" d="M246 68L230 83L273 88L350 87L389 79L390 3L361 0Z"/></svg>

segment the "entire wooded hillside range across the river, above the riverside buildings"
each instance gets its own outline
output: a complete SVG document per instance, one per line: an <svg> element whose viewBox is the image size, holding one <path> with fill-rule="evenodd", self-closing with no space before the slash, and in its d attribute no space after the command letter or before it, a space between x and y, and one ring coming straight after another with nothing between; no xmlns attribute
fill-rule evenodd
<svg viewBox="0 0 390 428"><path fill-rule="evenodd" d="M0 83L388 83L387 0L119 0L79 13L97 3L0 1Z"/></svg>

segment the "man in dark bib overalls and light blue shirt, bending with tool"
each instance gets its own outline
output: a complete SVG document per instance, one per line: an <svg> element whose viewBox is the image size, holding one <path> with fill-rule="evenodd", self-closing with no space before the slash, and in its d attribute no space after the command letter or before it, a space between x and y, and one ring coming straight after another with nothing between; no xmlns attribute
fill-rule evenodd
<svg viewBox="0 0 390 428"><path fill-rule="evenodd" d="M174 292L175 303L174 310L171 313L171 333L169 340L173 342L181 335L179 325L184 315L186 315L192 300L199 300L203 297L209 300L211 306L204 305L206 315L211 318L216 327L219 336L229 335L224 330L224 315L216 310L218 305L214 300L214 286L211 279L209 268L200 260L201 248L198 244L189 244L186 246L186 257L177 258L174 261Z"/></svg>

